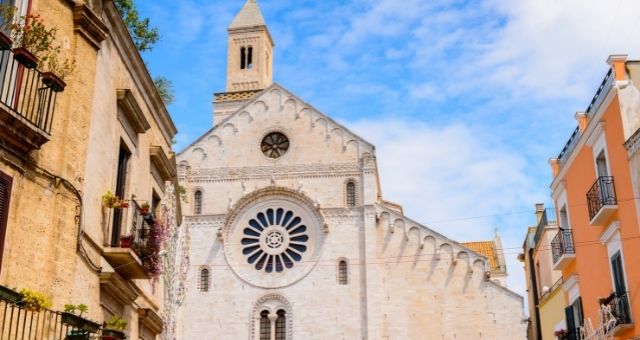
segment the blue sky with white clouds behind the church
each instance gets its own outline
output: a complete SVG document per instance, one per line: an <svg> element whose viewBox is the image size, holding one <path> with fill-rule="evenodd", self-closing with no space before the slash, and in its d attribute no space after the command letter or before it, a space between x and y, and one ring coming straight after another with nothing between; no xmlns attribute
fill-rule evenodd
<svg viewBox="0 0 640 340"><path fill-rule="evenodd" d="M556 156L607 71L640 52L634 0L258 0L274 79L374 143L384 196L461 241L498 228L511 272ZM181 150L211 127L226 28L244 0L137 4L162 39ZM634 14L635 13L635 14Z"/></svg>

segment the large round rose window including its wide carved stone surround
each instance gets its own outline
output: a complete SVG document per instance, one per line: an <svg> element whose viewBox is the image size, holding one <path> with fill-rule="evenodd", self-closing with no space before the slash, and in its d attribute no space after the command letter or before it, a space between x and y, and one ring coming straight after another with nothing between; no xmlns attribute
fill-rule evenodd
<svg viewBox="0 0 640 340"><path fill-rule="evenodd" d="M227 215L226 261L253 286L289 286L317 264L326 237L324 225L308 197L283 187L259 189L240 199Z"/></svg>

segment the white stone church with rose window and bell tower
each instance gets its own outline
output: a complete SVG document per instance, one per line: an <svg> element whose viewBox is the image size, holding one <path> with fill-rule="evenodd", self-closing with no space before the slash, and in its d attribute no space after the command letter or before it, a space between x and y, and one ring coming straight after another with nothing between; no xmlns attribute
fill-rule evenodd
<svg viewBox="0 0 640 340"><path fill-rule="evenodd" d="M178 156L180 339L524 339L485 256L404 216L375 148L278 84L255 0L229 27L214 127Z"/></svg>

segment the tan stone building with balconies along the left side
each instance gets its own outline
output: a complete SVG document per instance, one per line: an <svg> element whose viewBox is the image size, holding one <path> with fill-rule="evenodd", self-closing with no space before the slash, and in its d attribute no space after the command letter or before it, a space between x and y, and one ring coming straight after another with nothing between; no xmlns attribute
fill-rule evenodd
<svg viewBox="0 0 640 340"><path fill-rule="evenodd" d="M0 51L0 284L50 297L53 311L40 313L54 326L55 311L83 303L89 319L117 315L129 338L156 339L163 280L154 289L150 260L163 259L151 245L157 228L173 232L181 218L176 128L112 1L15 5L57 28L61 56L76 68L54 92L40 66L28 69L10 49ZM128 207L106 207L109 191ZM0 321L3 339L24 325L53 336L52 325L6 314Z"/></svg>

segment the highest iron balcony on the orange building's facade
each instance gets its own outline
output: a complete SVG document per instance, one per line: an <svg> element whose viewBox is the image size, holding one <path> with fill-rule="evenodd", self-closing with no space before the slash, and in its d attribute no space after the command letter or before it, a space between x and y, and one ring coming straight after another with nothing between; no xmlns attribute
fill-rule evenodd
<svg viewBox="0 0 640 340"><path fill-rule="evenodd" d="M600 176L587 192L591 225L603 225L618 210L613 176Z"/></svg>

